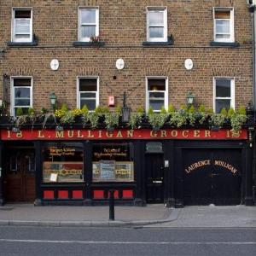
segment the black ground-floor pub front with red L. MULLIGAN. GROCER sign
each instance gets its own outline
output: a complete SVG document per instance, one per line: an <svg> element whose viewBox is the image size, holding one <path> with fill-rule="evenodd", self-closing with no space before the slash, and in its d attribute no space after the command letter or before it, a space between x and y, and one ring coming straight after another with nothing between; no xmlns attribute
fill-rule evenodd
<svg viewBox="0 0 256 256"><path fill-rule="evenodd" d="M253 204L247 130L1 131L2 201ZM4 150L3 150L4 148Z"/></svg>

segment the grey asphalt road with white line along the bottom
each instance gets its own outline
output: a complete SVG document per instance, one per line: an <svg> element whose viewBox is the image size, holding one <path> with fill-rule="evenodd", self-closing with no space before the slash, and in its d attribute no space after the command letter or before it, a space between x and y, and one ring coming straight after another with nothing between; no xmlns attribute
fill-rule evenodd
<svg viewBox="0 0 256 256"><path fill-rule="evenodd" d="M0 255L256 255L256 229L0 227Z"/></svg>

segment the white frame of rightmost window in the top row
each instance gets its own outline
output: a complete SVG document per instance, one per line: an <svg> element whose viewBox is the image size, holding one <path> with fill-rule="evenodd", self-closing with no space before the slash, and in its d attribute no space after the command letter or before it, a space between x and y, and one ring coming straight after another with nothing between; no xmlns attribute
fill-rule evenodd
<svg viewBox="0 0 256 256"><path fill-rule="evenodd" d="M215 11L230 11L230 38L216 38L216 20L215 19ZM228 20L228 19L220 19L220 20ZM234 43L235 42L235 29L234 29L234 9L233 8L213 8L213 30L214 30L214 41L215 42L226 42L226 43Z"/></svg>

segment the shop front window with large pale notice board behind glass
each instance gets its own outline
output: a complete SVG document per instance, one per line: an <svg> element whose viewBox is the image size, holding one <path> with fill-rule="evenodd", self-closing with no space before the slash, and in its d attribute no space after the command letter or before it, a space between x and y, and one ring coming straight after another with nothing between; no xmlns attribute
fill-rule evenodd
<svg viewBox="0 0 256 256"><path fill-rule="evenodd" d="M130 143L100 143L93 146L93 182L133 182Z"/></svg>

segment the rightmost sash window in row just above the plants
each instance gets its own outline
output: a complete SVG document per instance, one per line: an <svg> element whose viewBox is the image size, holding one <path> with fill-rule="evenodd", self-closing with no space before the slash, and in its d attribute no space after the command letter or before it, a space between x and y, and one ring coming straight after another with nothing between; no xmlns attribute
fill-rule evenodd
<svg viewBox="0 0 256 256"><path fill-rule="evenodd" d="M234 79L214 79L214 110L220 113L222 108L235 108L235 81Z"/></svg>

